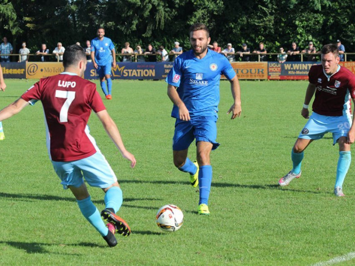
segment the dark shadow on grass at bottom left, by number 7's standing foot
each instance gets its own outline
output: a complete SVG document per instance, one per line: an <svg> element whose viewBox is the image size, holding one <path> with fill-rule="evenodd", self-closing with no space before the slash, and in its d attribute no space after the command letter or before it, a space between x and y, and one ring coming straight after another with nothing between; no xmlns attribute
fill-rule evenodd
<svg viewBox="0 0 355 266"><path fill-rule="evenodd" d="M6 244L11 247L22 249L29 254L41 253L41 254L60 254L60 255L70 255L70 256L81 256L81 254L73 253L62 253L62 252L51 252L45 249L45 247L107 247L107 245L98 245L93 243L81 242L78 244L48 244L48 243L38 243L38 242L15 242L15 241L0 241L0 244Z"/></svg>

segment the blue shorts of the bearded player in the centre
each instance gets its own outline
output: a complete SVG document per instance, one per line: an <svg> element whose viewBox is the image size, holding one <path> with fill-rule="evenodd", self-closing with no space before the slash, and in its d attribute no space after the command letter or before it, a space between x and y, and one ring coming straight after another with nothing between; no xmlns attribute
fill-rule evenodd
<svg viewBox="0 0 355 266"><path fill-rule="evenodd" d="M217 138L217 117L199 116L191 118L190 121L176 119L175 132L173 137L173 151L182 151L189 148L190 144L196 139L213 144L212 150L216 150L219 143Z"/></svg>

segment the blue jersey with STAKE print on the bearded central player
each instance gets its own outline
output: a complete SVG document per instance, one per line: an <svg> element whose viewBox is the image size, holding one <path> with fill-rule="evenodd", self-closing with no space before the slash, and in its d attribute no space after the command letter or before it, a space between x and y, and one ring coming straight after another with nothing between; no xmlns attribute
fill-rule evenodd
<svg viewBox="0 0 355 266"><path fill-rule="evenodd" d="M189 110L190 117L214 116L218 112L221 74L228 79L236 76L225 56L208 49L206 56L198 59L190 50L175 59L165 81L178 87L178 95ZM179 117L176 105L171 116Z"/></svg>

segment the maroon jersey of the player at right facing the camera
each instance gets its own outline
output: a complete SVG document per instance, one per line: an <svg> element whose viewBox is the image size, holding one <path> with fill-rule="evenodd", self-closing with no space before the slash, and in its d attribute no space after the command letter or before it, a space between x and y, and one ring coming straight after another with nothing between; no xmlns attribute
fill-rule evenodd
<svg viewBox="0 0 355 266"><path fill-rule="evenodd" d="M350 114L350 99L355 98L355 76L350 70L339 66L337 72L328 76L322 65L314 65L308 80L316 85L313 112L329 116Z"/></svg>

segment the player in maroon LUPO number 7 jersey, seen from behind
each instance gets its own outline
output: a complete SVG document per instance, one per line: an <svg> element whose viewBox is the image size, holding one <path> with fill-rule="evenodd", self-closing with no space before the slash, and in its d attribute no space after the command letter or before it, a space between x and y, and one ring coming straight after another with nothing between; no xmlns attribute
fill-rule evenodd
<svg viewBox="0 0 355 266"><path fill-rule="evenodd" d="M0 111L0 121L40 100L43 105L47 148L54 170L64 189L77 199L83 216L99 231L110 247L117 245L114 233L128 236L128 224L115 213L122 205L117 177L89 134L87 121L93 110L122 156L135 167L136 159L122 142L118 128L102 103L95 83L81 78L86 68L85 50L69 46L63 55L64 72L42 78L19 99ZM83 177L90 186L105 192L105 209L91 201ZM105 226L101 217L108 222Z"/></svg>

